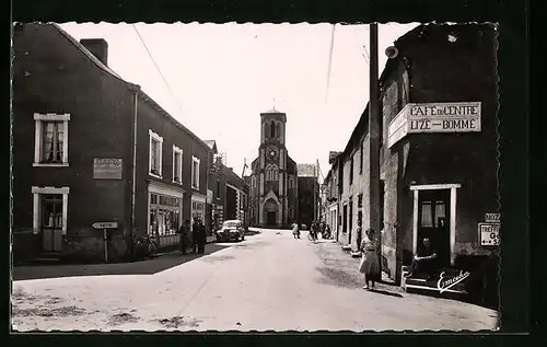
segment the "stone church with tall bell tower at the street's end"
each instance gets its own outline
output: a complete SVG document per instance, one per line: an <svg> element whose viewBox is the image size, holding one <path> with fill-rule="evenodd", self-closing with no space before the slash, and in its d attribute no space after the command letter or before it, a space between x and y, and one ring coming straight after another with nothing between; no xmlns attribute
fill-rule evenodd
<svg viewBox="0 0 547 347"><path fill-rule="evenodd" d="M298 216L296 163L286 147L287 114L271 109L260 114L258 158L245 177L251 184L251 224L288 228Z"/></svg>

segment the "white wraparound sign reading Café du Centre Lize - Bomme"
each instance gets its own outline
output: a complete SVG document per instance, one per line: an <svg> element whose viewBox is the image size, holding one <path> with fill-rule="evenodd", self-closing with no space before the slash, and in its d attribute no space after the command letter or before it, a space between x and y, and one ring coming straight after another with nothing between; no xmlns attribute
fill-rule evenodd
<svg viewBox="0 0 547 347"><path fill-rule="evenodd" d="M407 104L389 123L387 146L407 134L480 131L480 102Z"/></svg>

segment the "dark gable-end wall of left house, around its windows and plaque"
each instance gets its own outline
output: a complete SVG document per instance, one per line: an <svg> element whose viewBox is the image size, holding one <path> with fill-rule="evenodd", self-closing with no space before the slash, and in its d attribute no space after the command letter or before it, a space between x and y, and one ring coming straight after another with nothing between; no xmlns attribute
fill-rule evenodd
<svg viewBox="0 0 547 347"><path fill-rule="evenodd" d="M53 25L24 25L14 32L13 49L14 256L30 257L40 251L39 235L31 234L32 186L70 187L63 253L102 258L102 231L91 224L118 221L110 256L123 255L123 236L129 227L131 92ZM68 167L33 166L34 113L70 114ZM94 180L94 158L123 159L123 178Z"/></svg>

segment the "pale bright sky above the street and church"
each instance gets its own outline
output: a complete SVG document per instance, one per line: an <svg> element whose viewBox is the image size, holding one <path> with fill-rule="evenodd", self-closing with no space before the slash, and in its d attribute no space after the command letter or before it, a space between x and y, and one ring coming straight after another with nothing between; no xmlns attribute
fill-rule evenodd
<svg viewBox="0 0 547 347"><path fill-rule="evenodd" d="M385 48L417 25L379 25L380 74ZM216 140L238 175L258 155L260 113L275 107L287 114L289 155L318 160L326 176L328 152L345 149L369 101L366 24L335 26L328 92L331 24L60 26L77 39L106 39L108 66L199 138Z"/></svg>

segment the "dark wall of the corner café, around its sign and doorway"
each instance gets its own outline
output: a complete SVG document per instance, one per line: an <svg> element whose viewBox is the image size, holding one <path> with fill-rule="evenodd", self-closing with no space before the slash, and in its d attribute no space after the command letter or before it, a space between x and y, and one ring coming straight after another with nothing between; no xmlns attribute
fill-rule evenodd
<svg viewBox="0 0 547 347"><path fill-rule="evenodd" d="M407 102L482 103L480 132L412 134L392 149L384 143L383 253L388 268L396 273L401 264L411 262L410 185L462 184L457 189L455 253L476 256L490 253L489 248L478 245L477 223L484 221L486 212L497 212L499 207L494 32L473 25L451 31L458 38L456 43L447 41L446 31L429 31L423 39L399 47L400 56L408 58L408 70L401 63L384 83L384 134L387 134L388 122ZM393 221L396 224L392 224ZM395 262L394 244L397 245Z"/></svg>

